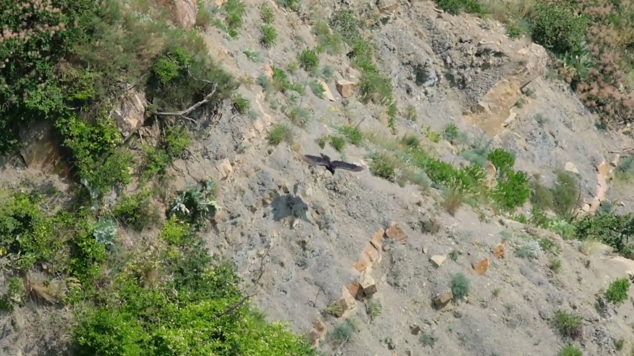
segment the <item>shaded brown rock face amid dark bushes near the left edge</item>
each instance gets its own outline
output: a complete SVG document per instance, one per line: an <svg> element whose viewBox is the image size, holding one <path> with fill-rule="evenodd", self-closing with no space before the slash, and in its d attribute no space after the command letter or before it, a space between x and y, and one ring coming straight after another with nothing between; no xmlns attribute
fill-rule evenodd
<svg viewBox="0 0 634 356"><path fill-rule="evenodd" d="M27 167L49 174L67 177L70 168L63 159L60 143L53 134L53 124L42 121L21 133L23 143L20 155Z"/></svg>

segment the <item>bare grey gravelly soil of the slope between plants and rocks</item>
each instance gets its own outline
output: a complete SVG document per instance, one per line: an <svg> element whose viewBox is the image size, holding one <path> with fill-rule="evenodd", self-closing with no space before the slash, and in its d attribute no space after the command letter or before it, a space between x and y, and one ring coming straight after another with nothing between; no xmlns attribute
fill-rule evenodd
<svg viewBox="0 0 634 356"><path fill-rule="evenodd" d="M246 25L239 39L230 40L223 31L211 27L205 40L226 70L236 77L257 77L263 73L264 63L249 61L243 49L260 49L259 2L246 3ZM343 5L311 3L310 8L327 17L339 6ZM353 7L376 5L355 3ZM285 67L295 60L297 48L314 46L315 40L309 23L296 13L279 8L275 15L278 43L261 53L266 63ZM451 86L446 79L450 72L446 56L453 56L453 63L465 60L461 56L467 56L466 52L459 50L463 44L475 46L480 38L489 35L512 42L501 35L501 27L485 30L481 21L469 16L439 15L429 2L403 2L388 21L373 31L380 68L393 79L399 107L411 104L418 111L417 122L398 122L399 135L418 132L424 137L424 127L441 130L450 122L470 137L481 135L477 127L463 122L462 111L499 80L500 73L491 67L476 74L465 89ZM295 44L297 37L306 44ZM432 72L433 85L415 83L411 70L417 63L432 68L427 73ZM344 55L324 54L321 64L331 65L339 77L349 68ZM294 78L302 79L302 75ZM452 217L444 212L443 198L434 189L421 192L417 186L399 187L374 177L367 169L331 175L323 167L311 168L299 160L298 152L321 151L333 158L341 157L330 146L320 149L316 144L316 138L346 124L349 117L342 115L334 82L328 82L328 86L336 101L306 94L304 105L312 110L311 120L305 129L294 129L294 144L271 146L263 133L244 140L253 130L252 119L232 115L227 108L221 122L191 147L192 156L176 164L184 174L176 174L172 191L207 174L218 177L214 167L224 159L232 163L233 171L219 182L223 212L217 217L217 226L207 232L207 241L210 253L232 258L246 281L261 274L257 286L248 283L245 288L257 292L254 302L271 319L287 320L299 333L307 333L318 317L324 318L328 329L339 324L342 319L324 317L323 310L341 297L342 286L354 280L353 264L373 232L396 222L408 239L405 243L387 242L389 248L382 251L381 262L371 272L378 289L374 298L382 305L382 313L371 320L363 302L357 302L356 310L347 317L354 320L358 331L344 345L322 342L321 348L328 354L340 346L341 354L351 356L555 355L567 341L550 324L557 310L583 315L583 336L573 342L585 355L618 353L614 346L618 339L627 341L621 353L630 351L630 340L634 341L634 302L609 306L602 313L595 308L600 289L615 278L626 276L626 267L609 255L583 255L577 241L562 241L550 232L538 231L562 248L562 269L558 274L550 271L545 254L534 260L515 257L513 238L507 243L505 258L495 258L491 249L503 238L500 232L517 236L524 227L503 226L496 216L482 222L467 205ZM596 185L595 165L602 157L609 158L607 151L631 145L630 138L595 129L595 117L557 80L540 77L529 86L535 92L534 98L518 110L512 125L494 137L494 146L515 151L515 168L529 174L539 172L547 178L552 177L554 168L574 162L583 182L583 194L590 198ZM240 92L261 115L270 115L273 122L287 122L283 113L268 107L259 86L241 87ZM349 101L348 112L352 113L354 124L362 121L360 127L367 132L391 135L385 123L374 117L376 111L373 106ZM533 120L538 113L548 117L547 124L539 125ZM431 145L444 160L461 162L462 158L453 155L446 142ZM349 145L344 158L366 164L366 154L372 147L369 143L361 148ZM6 186L16 187L26 178L54 181L63 188L55 177L31 172L6 160L2 173ZM628 209L634 203L631 188L621 187L619 192L623 209ZM436 221L438 231L425 229L430 220ZM431 255L449 255L453 250L459 252L455 260L447 258L439 268L429 262ZM472 273L472 263L486 257L491 258L486 274ZM456 272L464 272L470 279L467 300L435 310L432 299L448 291ZM47 318L39 314L29 304L12 314L0 315L0 350L9 350L7 355L35 355L36 346L32 350L25 346L29 338L55 342L54 331L48 333L48 339L42 338L41 329ZM411 333L414 325L420 326L421 334L435 336L433 346L423 345L421 334Z"/></svg>

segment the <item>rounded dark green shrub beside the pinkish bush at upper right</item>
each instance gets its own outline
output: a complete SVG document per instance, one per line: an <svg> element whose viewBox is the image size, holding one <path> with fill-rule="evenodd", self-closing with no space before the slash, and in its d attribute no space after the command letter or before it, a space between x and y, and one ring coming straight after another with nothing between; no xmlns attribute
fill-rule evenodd
<svg viewBox="0 0 634 356"><path fill-rule="evenodd" d="M574 53L588 29L588 19L578 16L566 3L538 2L531 21L531 37L555 53Z"/></svg>

